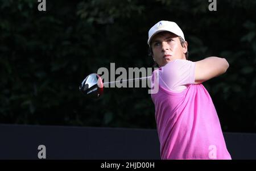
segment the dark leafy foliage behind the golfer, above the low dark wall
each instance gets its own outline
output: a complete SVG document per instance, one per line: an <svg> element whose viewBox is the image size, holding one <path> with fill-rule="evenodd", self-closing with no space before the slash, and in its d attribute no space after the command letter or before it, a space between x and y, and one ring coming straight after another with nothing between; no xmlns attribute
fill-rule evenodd
<svg viewBox="0 0 256 171"><path fill-rule="evenodd" d="M228 71L204 82L222 131L256 132L256 1L0 1L0 123L155 128L147 88L105 89L87 98L79 85L98 68L152 67L148 30L176 22L189 60L225 57Z"/></svg>

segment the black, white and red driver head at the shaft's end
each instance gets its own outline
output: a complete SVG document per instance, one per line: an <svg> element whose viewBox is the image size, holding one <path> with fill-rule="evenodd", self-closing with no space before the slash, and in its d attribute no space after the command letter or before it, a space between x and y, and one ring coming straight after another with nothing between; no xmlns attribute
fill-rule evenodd
<svg viewBox="0 0 256 171"><path fill-rule="evenodd" d="M79 86L79 90L86 96L98 98L103 93L103 83L98 74L89 74Z"/></svg>

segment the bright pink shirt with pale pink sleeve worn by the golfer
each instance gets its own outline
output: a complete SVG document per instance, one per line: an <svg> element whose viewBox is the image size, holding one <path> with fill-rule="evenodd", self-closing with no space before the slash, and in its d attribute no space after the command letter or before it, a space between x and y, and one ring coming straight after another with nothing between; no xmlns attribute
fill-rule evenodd
<svg viewBox="0 0 256 171"><path fill-rule="evenodd" d="M153 72L159 78L151 98L161 159L231 159L212 99L202 84L195 85L195 66L174 60Z"/></svg>

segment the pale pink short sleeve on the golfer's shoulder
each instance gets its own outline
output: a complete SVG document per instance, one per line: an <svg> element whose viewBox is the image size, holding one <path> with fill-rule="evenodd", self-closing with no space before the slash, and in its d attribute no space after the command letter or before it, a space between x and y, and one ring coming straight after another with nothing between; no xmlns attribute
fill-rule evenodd
<svg viewBox="0 0 256 171"><path fill-rule="evenodd" d="M159 73L159 85L172 91L181 91L195 84L196 63L177 59L164 65Z"/></svg>

